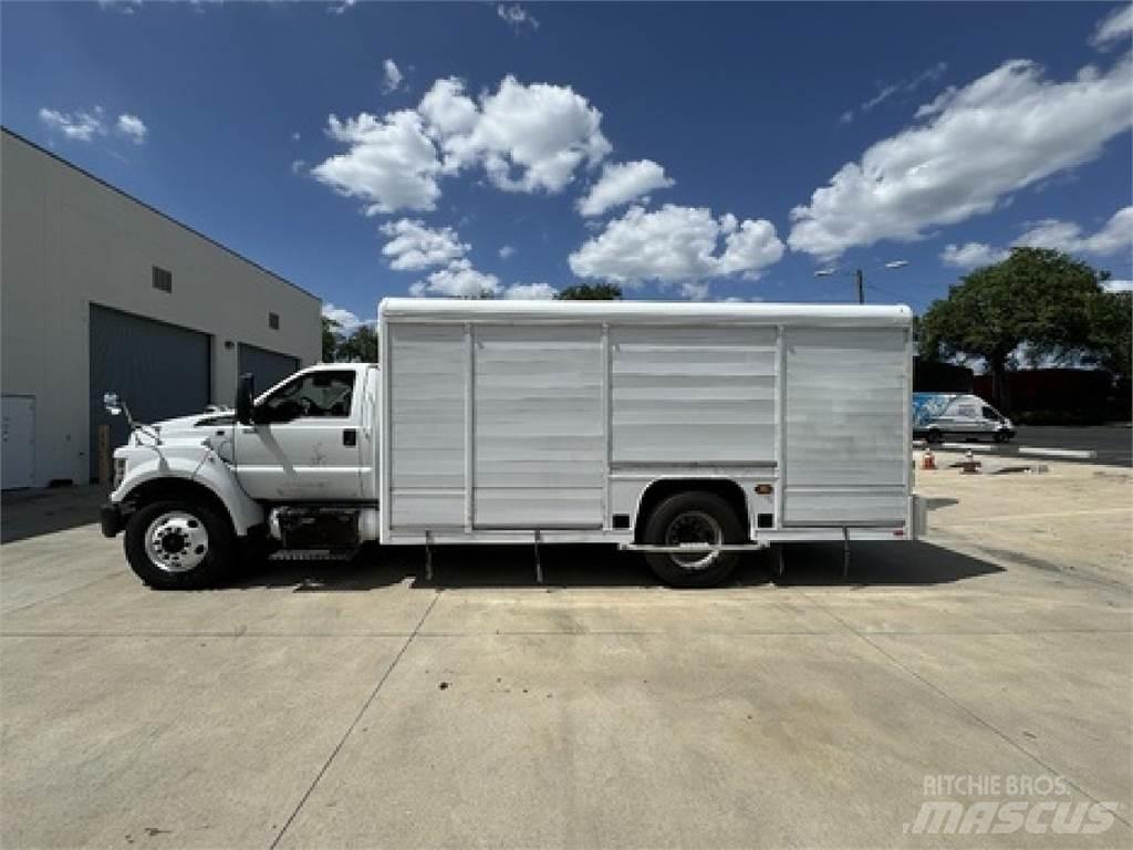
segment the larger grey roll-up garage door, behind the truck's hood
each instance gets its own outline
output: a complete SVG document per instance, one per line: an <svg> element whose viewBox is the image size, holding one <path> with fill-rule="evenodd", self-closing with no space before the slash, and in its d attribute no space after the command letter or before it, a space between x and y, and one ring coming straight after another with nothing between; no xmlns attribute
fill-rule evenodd
<svg viewBox="0 0 1133 850"><path fill-rule="evenodd" d="M99 426L110 445L126 442L123 417L108 416L102 394L117 392L139 422L204 410L210 399L210 337L91 305L91 478L99 475Z"/></svg>

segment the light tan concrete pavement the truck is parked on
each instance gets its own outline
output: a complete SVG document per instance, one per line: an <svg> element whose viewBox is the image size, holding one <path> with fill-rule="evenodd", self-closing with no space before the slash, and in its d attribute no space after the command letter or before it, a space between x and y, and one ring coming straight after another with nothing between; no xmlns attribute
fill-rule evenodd
<svg viewBox="0 0 1133 850"><path fill-rule="evenodd" d="M849 581L815 545L708 592L588 547L548 549L536 587L525 547L442 550L435 585L404 549L163 594L94 526L24 536L0 550L0 844L1127 847L1133 552L979 550L991 481L921 475L934 542L857 546ZM940 774L1058 777L1022 799L1118 819L911 834L926 800L987 799L926 797Z"/></svg>

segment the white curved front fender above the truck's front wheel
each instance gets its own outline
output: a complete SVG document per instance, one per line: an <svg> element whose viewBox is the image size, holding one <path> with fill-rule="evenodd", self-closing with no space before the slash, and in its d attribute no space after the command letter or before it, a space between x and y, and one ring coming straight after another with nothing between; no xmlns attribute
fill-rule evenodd
<svg viewBox="0 0 1133 850"><path fill-rule="evenodd" d="M170 478L189 481L206 487L220 499L238 536L242 537L253 526L262 525L265 521L264 509L240 488L229 466L212 449L199 444L194 448L196 451L193 452L151 449L148 457L134 459L118 490L110 494L110 501L120 504L148 482Z"/></svg>

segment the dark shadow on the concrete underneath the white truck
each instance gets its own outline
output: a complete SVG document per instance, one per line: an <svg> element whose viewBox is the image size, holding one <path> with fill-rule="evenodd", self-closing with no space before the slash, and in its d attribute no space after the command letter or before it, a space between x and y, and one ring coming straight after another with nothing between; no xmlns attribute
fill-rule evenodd
<svg viewBox="0 0 1133 850"><path fill-rule="evenodd" d="M854 543L850 573L842 575L841 544L792 544L785 572L776 577L768 552L744 556L724 587L920 586L1002 572L989 561L929 543ZM544 545L543 585L535 578L531 546L436 546L433 580L425 579L423 546L368 547L349 562L269 561L249 568L229 587L295 587L296 593L370 590L411 580L414 588L662 587L640 555L606 545ZM706 590L710 593L712 590Z"/></svg>

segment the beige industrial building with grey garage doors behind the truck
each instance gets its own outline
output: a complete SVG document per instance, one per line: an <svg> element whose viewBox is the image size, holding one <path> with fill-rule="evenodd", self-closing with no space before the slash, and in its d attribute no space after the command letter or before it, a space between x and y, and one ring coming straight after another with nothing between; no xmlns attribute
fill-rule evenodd
<svg viewBox="0 0 1133 850"><path fill-rule="evenodd" d="M0 154L5 490L95 479L107 391L152 422L317 362L310 292L8 129Z"/></svg>

